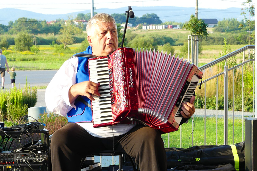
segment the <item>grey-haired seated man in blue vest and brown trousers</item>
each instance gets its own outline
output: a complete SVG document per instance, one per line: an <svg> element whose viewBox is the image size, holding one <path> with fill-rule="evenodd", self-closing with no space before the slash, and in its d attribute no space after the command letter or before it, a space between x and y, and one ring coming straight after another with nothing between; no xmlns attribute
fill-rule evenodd
<svg viewBox="0 0 257 171"><path fill-rule="evenodd" d="M118 48L117 26L114 18L105 13L94 15L87 25L89 47L84 54L107 56ZM51 144L53 171L80 170L83 157L102 150L119 150L135 158L141 171L166 171L166 153L158 130L142 125L117 124L94 128L91 108L86 102L99 96L99 83L89 81L88 58L68 59L46 88L46 106L68 117L69 123L55 131ZM183 117L194 113L194 96L184 104Z"/></svg>

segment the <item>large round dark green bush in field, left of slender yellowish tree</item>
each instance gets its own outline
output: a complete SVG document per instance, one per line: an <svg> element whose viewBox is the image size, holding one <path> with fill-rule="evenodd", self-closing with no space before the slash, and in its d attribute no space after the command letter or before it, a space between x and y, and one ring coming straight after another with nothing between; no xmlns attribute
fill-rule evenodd
<svg viewBox="0 0 257 171"><path fill-rule="evenodd" d="M30 47L33 45L31 37L25 32L19 33L14 42L17 51L30 51Z"/></svg>

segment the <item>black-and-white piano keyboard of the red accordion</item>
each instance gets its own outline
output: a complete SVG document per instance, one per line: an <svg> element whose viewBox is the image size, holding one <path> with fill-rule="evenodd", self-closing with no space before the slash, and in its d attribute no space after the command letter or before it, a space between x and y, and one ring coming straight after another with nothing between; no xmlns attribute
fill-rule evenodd
<svg viewBox="0 0 257 171"><path fill-rule="evenodd" d="M89 80L100 83L100 96L92 95L95 99L91 104L94 124L112 122L108 58L89 60L89 72Z"/></svg>

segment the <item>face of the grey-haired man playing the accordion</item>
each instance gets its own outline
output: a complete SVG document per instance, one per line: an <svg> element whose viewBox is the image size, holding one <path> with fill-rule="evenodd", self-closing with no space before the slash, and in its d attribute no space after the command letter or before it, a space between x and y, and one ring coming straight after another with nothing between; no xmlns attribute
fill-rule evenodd
<svg viewBox="0 0 257 171"><path fill-rule="evenodd" d="M107 56L118 48L118 34L114 23L98 21L91 30L92 34L88 36L88 42L94 55Z"/></svg>

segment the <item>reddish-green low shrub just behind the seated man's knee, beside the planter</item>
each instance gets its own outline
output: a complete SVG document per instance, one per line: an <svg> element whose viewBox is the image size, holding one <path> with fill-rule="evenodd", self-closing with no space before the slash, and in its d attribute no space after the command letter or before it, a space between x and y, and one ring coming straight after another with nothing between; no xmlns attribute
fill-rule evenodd
<svg viewBox="0 0 257 171"><path fill-rule="evenodd" d="M46 124L45 128L49 131L49 135L53 134L57 129L62 128L66 123L68 123L67 117L61 116L59 114L54 114L50 112L40 114L41 118L38 122Z"/></svg>

